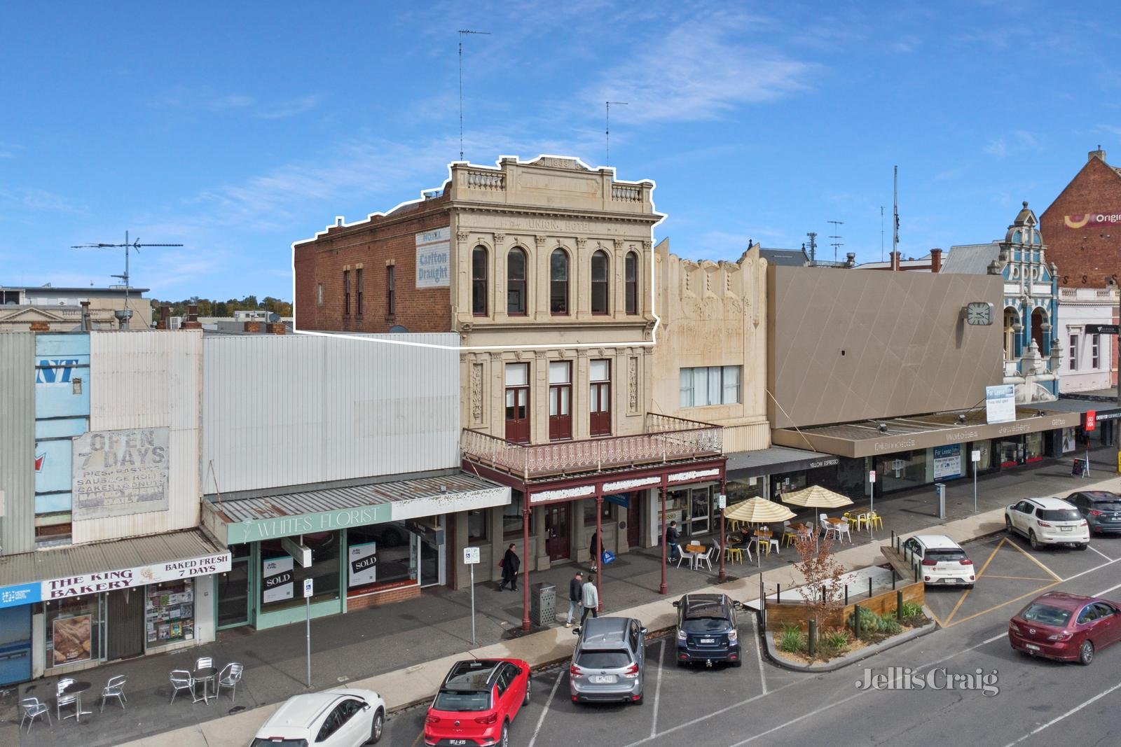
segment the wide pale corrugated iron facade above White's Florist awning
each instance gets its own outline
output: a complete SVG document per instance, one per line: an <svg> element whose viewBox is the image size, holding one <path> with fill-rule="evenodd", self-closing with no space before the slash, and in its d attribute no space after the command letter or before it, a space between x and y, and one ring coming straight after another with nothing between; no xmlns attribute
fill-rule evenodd
<svg viewBox="0 0 1121 747"><path fill-rule="evenodd" d="M458 336L383 339L207 336L203 494L457 467Z"/></svg>

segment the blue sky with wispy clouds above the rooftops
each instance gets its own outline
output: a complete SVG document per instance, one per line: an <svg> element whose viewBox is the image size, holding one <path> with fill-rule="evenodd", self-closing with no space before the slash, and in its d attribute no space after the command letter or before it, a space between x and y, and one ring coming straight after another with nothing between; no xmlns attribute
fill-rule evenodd
<svg viewBox="0 0 1121 747"><path fill-rule="evenodd" d="M234 7L235 4L240 7ZM807 231L880 259L1001 236L1099 143L1121 164L1115 2L4 3L0 283L291 297L290 244L472 161L654 179L692 259ZM1045 236L1046 240L1046 236Z"/></svg>

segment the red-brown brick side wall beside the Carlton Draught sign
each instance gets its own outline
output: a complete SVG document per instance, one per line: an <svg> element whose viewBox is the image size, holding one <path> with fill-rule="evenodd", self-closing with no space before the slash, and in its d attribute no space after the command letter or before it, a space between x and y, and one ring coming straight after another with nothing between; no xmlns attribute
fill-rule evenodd
<svg viewBox="0 0 1121 747"><path fill-rule="evenodd" d="M437 197L393 215L356 226L333 226L314 241L297 244L296 328L410 333L452 329L451 288L416 287L416 234L450 225L448 198ZM454 251L452 237L450 252ZM358 269L362 269L362 315L358 315ZM395 308L388 314L387 267L395 268ZM343 270L350 269L350 315L343 314ZM323 304L317 286L323 284Z"/></svg>

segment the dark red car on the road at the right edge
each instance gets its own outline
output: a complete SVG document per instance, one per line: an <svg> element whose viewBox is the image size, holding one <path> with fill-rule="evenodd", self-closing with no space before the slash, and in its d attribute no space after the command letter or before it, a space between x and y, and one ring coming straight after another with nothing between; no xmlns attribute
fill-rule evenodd
<svg viewBox="0 0 1121 747"><path fill-rule="evenodd" d="M1095 651L1121 641L1121 605L1048 591L1008 622L1008 641L1032 656L1088 664Z"/></svg>

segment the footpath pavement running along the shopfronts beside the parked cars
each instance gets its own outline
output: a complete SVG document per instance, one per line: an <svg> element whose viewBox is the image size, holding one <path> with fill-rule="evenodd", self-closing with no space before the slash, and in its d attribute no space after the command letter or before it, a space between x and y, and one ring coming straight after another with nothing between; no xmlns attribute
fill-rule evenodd
<svg viewBox="0 0 1121 747"><path fill-rule="evenodd" d="M1121 479L1112 470L1115 450L1091 452L1091 476L1071 475L1071 459L1045 460L1035 467L1019 468L982 477L978 483L978 507L973 513L973 483L958 479L947 483L945 522L935 510L930 486L878 497L876 506L884 527L869 540L867 532L854 532L837 558L850 569L883 562L880 547L890 541L891 531L911 534L937 527L958 542L998 532L1003 527L1003 507L1021 497L1065 496L1074 489L1121 489ZM807 514L808 515L808 514ZM759 596L759 577L768 592L775 586L797 585L800 578L791 564L793 550L763 557L757 566L728 566L729 580L717 585L715 569L691 571L685 566L668 570L669 594L658 595L660 549L632 551L604 568L603 600L608 615L637 617L651 632L670 627L676 620L671 601L685 591L711 590L750 601ZM567 610L564 603L567 579L576 566L568 564L532 573L532 583L556 585L558 617ZM37 723L30 736L16 734L18 698L35 695L44 700L54 680L38 680L3 694L7 707L0 723L0 744L55 745L168 745L176 747L225 747L248 744L256 729L286 698L332 687L377 690L389 709L424 702L451 664L467 656L516 657L532 666L545 666L571 655L573 636L559 623L524 634L520 631L521 594L500 592L493 583L475 588L476 641L471 644L470 592L448 589L427 590L419 599L389 607L361 610L312 622L312 688L305 683L304 625L290 625L250 633L226 631L219 641L167 655L146 656L117 662L83 672L80 679L94 683L91 701L101 683L114 674L128 676L127 710L114 701L103 713L82 723L67 719L52 728ZM213 656L216 664L238 661L245 664L244 679L238 688L237 704L229 692L210 704L192 703L182 694L168 704L168 673L191 669L196 656ZM131 740L131 741L130 741Z"/></svg>

